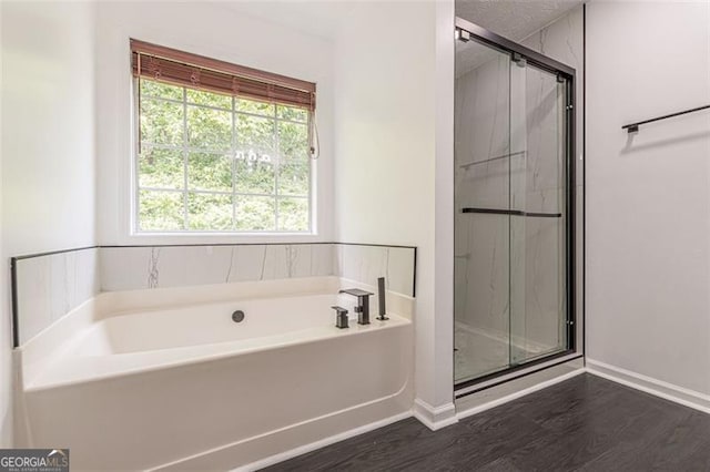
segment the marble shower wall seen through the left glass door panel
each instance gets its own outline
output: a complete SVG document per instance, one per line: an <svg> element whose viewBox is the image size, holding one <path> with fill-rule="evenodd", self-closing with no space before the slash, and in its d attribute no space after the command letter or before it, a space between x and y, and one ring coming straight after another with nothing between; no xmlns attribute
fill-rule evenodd
<svg viewBox="0 0 710 472"><path fill-rule="evenodd" d="M505 337L510 218L462 213L465 207L508 208L509 166L518 158L505 157L510 153L510 60L501 53L486 59L456 79L454 309L465 329Z"/></svg>

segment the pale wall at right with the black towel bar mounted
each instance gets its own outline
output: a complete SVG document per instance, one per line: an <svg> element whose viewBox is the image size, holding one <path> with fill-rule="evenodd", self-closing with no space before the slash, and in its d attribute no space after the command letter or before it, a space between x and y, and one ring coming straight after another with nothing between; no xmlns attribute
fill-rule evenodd
<svg viewBox="0 0 710 472"><path fill-rule="evenodd" d="M589 362L710 393L710 3L587 10Z"/></svg>

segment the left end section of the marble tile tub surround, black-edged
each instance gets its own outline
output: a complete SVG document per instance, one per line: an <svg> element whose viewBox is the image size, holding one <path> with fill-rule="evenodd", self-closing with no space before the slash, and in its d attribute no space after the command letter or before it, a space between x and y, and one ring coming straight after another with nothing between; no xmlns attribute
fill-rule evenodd
<svg viewBox="0 0 710 472"><path fill-rule="evenodd" d="M18 324L22 345L100 289L99 249L79 249L16 261Z"/></svg>

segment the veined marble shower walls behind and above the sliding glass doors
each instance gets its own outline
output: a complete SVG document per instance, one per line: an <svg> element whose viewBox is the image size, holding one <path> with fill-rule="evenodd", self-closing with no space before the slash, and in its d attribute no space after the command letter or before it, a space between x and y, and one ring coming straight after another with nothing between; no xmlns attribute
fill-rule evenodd
<svg viewBox="0 0 710 472"><path fill-rule="evenodd" d="M582 9L577 8L523 42L577 70L578 155L582 21ZM510 334L514 347L535 353L562 341L564 220L460 209L565 213L565 154L558 138L562 90L554 75L519 68L500 53L480 58L485 62L456 80L455 317L464 328L486 336L506 339ZM491 158L496 160L484 162ZM470 165L476 162L481 163ZM581 255L580 161L577 167L577 254Z"/></svg>

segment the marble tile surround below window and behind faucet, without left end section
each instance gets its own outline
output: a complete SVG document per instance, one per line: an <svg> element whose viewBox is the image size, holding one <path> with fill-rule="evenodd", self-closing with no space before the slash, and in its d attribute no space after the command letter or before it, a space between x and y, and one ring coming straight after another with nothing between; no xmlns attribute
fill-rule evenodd
<svg viewBox="0 0 710 472"><path fill-rule="evenodd" d="M414 296L415 248L339 243L101 248L101 291L339 276Z"/></svg>

